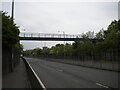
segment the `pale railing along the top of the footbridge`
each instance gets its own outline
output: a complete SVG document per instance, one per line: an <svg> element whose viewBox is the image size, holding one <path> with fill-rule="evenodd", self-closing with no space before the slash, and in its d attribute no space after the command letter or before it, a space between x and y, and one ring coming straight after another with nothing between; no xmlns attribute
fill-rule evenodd
<svg viewBox="0 0 120 90"><path fill-rule="evenodd" d="M40 38L82 38L80 34L50 34L50 33L23 33L21 32L20 37L40 37Z"/></svg>

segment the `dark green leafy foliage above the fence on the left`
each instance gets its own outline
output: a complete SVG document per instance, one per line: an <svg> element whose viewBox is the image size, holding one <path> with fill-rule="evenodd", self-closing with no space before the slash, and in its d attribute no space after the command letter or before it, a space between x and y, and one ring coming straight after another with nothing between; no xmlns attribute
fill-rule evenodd
<svg viewBox="0 0 120 90"><path fill-rule="evenodd" d="M7 16L5 12L2 14L2 43L3 46L14 46L19 41L19 29L10 16Z"/></svg>

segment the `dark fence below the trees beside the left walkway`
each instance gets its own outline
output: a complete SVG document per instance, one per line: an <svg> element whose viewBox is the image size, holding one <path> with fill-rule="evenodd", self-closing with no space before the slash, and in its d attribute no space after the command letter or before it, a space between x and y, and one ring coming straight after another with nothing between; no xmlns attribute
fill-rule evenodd
<svg viewBox="0 0 120 90"><path fill-rule="evenodd" d="M2 47L2 73L12 72L20 62L20 52L11 46Z"/></svg>

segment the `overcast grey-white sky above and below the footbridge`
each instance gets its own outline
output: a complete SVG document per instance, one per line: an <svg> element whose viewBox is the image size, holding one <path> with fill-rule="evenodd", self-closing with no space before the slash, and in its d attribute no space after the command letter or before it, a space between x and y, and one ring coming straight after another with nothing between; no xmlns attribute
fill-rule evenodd
<svg viewBox="0 0 120 90"><path fill-rule="evenodd" d="M8 15L11 15L10 1L2 3L2 10L7 11ZM111 21L118 20L118 0L110 1L17 1L14 19L20 26L20 32L63 33L64 31L67 34L81 34L94 31L97 33L102 28L107 29ZM59 42L22 41L21 43L25 49L30 49L45 45L52 46Z"/></svg>

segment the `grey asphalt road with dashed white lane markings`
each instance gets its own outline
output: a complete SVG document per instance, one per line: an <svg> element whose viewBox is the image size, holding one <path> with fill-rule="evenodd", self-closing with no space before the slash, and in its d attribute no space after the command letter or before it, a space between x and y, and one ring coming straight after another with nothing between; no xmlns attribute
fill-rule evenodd
<svg viewBox="0 0 120 90"><path fill-rule="evenodd" d="M118 88L118 72L26 58L46 88Z"/></svg>

